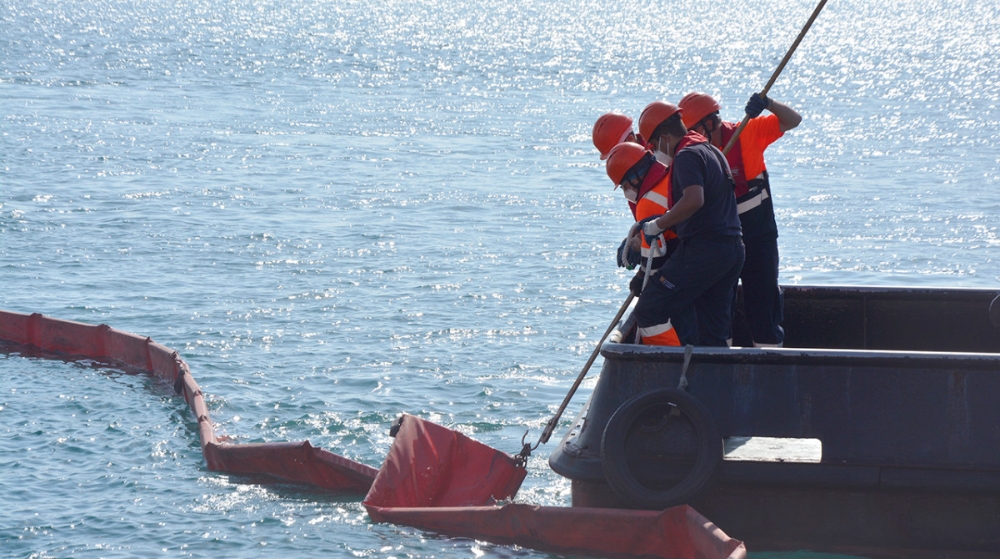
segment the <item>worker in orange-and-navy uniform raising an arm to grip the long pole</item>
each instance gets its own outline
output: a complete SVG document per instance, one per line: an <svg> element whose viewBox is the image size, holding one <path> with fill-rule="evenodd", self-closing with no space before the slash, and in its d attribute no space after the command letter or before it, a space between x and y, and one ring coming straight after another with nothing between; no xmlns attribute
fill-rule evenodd
<svg viewBox="0 0 1000 559"><path fill-rule="evenodd" d="M689 93L679 106L684 125L720 149L729 144L739 127L739 123L719 118L719 103L710 95ZM765 108L771 114L759 116ZM726 154L736 182L736 211L746 247L746 262L740 273L743 304L754 345L780 347L785 331L781 326L784 303L778 286L778 226L764 150L798 126L802 116L788 105L756 93L745 110L751 118Z"/></svg>

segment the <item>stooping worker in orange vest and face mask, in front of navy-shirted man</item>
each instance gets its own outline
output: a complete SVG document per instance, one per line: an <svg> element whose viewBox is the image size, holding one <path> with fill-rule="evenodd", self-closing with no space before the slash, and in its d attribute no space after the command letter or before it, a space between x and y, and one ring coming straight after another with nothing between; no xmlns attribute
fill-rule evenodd
<svg viewBox="0 0 1000 559"><path fill-rule="evenodd" d="M637 236L642 240L641 256L644 265L639 266L639 271L632 277L629 290L642 300L647 272L652 274L662 266L678 243L673 231L665 231L656 239L646 239L640 230L643 223L663 215L670 208L670 173L651 151L631 142L620 143L611 150L606 170L615 190L621 187L625 198L635 204L637 223L629 232L629 238ZM640 328L642 343L680 345L670 317L659 316L658 319L658 323L646 324Z"/></svg>

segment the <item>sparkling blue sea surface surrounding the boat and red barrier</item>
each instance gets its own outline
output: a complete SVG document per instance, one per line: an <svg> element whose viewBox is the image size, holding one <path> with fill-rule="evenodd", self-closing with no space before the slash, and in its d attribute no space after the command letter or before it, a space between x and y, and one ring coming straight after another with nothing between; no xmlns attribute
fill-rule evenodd
<svg viewBox="0 0 1000 559"><path fill-rule="evenodd" d="M0 308L177 349L241 442L377 467L406 411L515 452L627 295L596 117L739 120L814 7L4 2ZM771 89L784 283L1000 286L998 61L995 2L827 5ZM519 501L568 505L591 387ZM10 353L0 494L2 557L547 557L209 472L169 386Z"/></svg>

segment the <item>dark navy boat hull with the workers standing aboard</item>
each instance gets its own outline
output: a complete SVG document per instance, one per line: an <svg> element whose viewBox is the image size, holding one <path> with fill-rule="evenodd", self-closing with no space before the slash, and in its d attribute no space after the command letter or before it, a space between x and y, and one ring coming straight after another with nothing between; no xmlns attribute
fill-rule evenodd
<svg viewBox="0 0 1000 559"><path fill-rule="evenodd" d="M683 437L657 433L648 418L615 427L642 417L625 413L637 395L676 399L683 377L706 417L668 408L690 410L688 438L718 437L712 444L725 453L682 502L748 549L1000 553L1000 331L989 319L997 292L831 287L785 296L788 339L800 347L696 348L686 368L682 348L621 343L626 320L550 457L572 480L574 506L654 508L641 488L658 494L694 479L671 466L697 469L702 455L684 461L662 448L685 446ZM948 325L936 337L935 321ZM773 448L741 454L757 440ZM687 446L696 454L699 444ZM810 451L790 457L796 445ZM639 485L623 485L622 470Z"/></svg>

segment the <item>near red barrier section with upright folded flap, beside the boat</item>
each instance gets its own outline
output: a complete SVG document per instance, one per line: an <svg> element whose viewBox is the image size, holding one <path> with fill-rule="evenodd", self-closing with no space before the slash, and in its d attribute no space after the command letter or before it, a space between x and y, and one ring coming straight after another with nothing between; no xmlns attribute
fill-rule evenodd
<svg viewBox="0 0 1000 559"><path fill-rule="evenodd" d="M688 507L664 511L492 505L514 496L517 459L465 435L403 415L365 497L376 522L448 536L599 557L744 559L743 542Z"/></svg>

